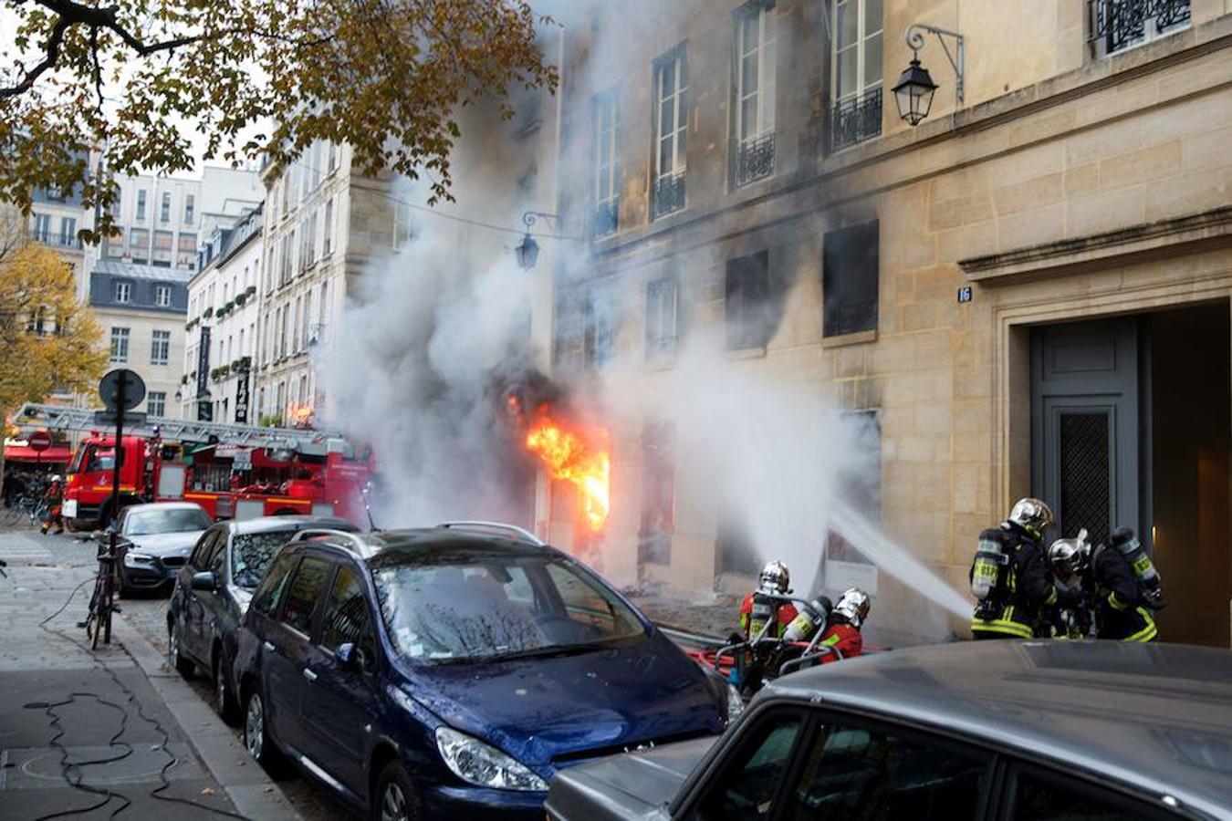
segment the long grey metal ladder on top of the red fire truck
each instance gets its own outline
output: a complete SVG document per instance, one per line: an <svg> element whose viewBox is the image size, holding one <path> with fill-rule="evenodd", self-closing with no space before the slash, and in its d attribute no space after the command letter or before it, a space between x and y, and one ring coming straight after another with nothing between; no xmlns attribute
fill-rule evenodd
<svg viewBox="0 0 1232 821"><path fill-rule="evenodd" d="M26 402L14 415L16 425L46 426L52 431L100 431L95 411L84 407L59 407ZM105 432L105 431L100 431ZM292 427L259 427L228 422L192 422L182 419L148 416L144 421L124 422L124 433L147 438L161 437L172 442L209 442L219 444L294 451L309 455L344 452L346 439L331 431L302 431Z"/></svg>

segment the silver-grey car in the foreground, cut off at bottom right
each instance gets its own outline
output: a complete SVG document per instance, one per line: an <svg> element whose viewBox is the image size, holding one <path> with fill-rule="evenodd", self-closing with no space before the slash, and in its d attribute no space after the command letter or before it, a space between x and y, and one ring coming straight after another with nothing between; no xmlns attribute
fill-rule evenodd
<svg viewBox="0 0 1232 821"><path fill-rule="evenodd" d="M1232 654L984 641L781 678L717 741L559 772L556 821L1232 819Z"/></svg>

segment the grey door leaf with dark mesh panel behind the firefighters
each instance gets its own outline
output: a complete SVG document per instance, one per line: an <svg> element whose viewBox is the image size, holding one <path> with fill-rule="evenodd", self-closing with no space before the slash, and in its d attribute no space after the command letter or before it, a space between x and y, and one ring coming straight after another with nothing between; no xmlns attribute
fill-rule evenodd
<svg viewBox="0 0 1232 821"><path fill-rule="evenodd" d="M1093 542L1140 521L1138 324L1132 318L1035 329L1032 492L1061 534Z"/></svg>

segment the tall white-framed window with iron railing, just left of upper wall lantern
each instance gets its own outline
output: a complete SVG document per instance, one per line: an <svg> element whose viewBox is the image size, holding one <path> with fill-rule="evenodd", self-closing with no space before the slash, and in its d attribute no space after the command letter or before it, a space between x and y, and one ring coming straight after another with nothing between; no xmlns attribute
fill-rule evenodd
<svg viewBox="0 0 1232 821"><path fill-rule="evenodd" d="M830 150L881 133L882 1L834 2Z"/></svg>

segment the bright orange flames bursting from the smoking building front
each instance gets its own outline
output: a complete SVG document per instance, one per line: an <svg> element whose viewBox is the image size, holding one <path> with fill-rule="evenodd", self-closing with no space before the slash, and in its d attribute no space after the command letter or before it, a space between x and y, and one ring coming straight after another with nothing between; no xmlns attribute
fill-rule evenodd
<svg viewBox="0 0 1232 821"><path fill-rule="evenodd" d="M607 524L610 510L611 453L606 447L588 444L586 438L606 439L606 432L586 437L541 414L526 433L526 449L540 458L553 479L578 487L582 513L590 529L599 532Z"/></svg>

